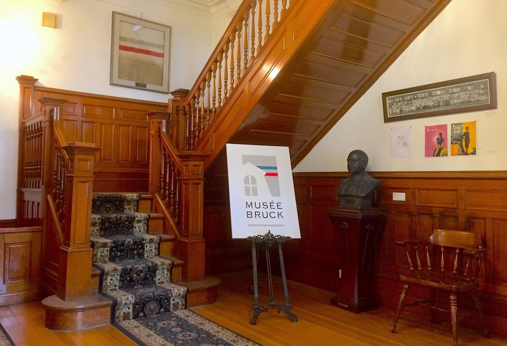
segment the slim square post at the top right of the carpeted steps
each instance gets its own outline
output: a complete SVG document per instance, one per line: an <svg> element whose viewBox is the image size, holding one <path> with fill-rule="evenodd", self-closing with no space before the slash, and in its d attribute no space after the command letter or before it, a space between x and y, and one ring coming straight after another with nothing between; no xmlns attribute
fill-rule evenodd
<svg viewBox="0 0 507 346"><path fill-rule="evenodd" d="M160 139L160 123L163 120L170 120L171 114L159 110L148 112L148 120L150 122L150 176L148 180L148 192L155 196L160 191L160 167L162 165L161 158L161 139Z"/></svg>

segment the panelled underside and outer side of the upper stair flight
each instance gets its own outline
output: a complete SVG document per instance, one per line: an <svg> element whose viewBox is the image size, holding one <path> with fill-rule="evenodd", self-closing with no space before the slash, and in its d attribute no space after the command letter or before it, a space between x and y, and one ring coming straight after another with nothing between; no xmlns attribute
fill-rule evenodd
<svg viewBox="0 0 507 346"><path fill-rule="evenodd" d="M275 62L263 60L262 54L257 57L259 61L251 66L252 70L259 74L264 71L265 75L244 78L246 81L242 83L248 86L242 94L247 96L235 101L243 102L236 106L241 109L235 110L234 106L229 109L231 118L236 111L241 113L236 116L239 120L231 121L234 128L222 130L225 134L211 129L206 134L208 138L200 141L199 149L210 154L207 179L225 172L222 151L226 142L288 146L293 167L296 166L449 2L340 0L302 2L302 5L293 2L290 10L297 13L288 15L292 22L281 22L288 34L285 32L282 39L277 39L273 32L271 41L266 42L264 50L271 50L271 55L280 46L275 41L285 40L286 47L281 50L291 50L287 40L297 41L298 30L307 25L298 21L303 18L309 21L312 11L322 11L319 19L308 29L299 47L287 53L292 54L290 57L280 53ZM255 80L269 79L274 70L279 72L267 87L261 84L252 90ZM255 104L250 102L256 97Z"/></svg>

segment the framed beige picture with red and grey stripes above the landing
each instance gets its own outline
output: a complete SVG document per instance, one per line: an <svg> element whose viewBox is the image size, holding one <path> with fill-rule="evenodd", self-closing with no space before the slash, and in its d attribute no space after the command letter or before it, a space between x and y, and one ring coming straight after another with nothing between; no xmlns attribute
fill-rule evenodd
<svg viewBox="0 0 507 346"><path fill-rule="evenodd" d="M110 84L169 93L171 27L113 12Z"/></svg>

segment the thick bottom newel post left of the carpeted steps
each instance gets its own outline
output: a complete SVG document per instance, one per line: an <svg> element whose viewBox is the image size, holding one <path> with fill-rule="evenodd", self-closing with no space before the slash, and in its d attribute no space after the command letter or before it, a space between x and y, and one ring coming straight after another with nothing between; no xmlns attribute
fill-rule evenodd
<svg viewBox="0 0 507 346"><path fill-rule="evenodd" d="M57 295L62 300L90 295L92 249L90 222L93 165L99 148L93 143L74 142L64 146L69 163L65 174L63 245Z"/></svg>

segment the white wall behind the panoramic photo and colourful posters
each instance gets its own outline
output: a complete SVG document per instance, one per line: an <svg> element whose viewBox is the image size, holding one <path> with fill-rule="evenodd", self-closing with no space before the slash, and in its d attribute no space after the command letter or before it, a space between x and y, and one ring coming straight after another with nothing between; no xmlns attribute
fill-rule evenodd
<svg viewBox="0 0 507 346"><path fill-rule="evenodd" d="M347 156L353 149L368 154L369 171L507 170L505 18L507 1L452 0L294 171L347 171ZM496 72L497 109L383 121L383 92L492 71ZM469 121L477 121L476 156L424 157L424 126L448 124L450 131L450 124ZM411 158L390 158L389 132L399 126L412 127Z"/></svg>

